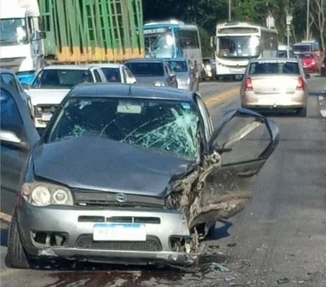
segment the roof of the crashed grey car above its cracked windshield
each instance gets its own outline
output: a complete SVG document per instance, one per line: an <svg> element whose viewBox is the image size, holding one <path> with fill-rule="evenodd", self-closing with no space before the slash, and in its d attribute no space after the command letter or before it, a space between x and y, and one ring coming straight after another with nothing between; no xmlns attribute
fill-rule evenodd
<svg viewBox="0 0 326 287"><path fill-rule="evenodd" d="M70 97L130 97L193 101L193 92L175 87L148 87L120 83L81 83L76 85ZM68 96L69 97L69 96Z"/></svg>

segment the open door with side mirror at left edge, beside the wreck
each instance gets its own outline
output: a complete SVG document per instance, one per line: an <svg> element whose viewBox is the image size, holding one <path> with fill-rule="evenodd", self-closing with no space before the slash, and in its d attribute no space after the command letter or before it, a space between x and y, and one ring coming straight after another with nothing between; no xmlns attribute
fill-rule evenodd
<svg viewBox="0 0 326 287"><path fill-rule="evenodd" d="M11 214L30 149L39 141L29 109L17 89L1 81L1 212Z"/></svg>

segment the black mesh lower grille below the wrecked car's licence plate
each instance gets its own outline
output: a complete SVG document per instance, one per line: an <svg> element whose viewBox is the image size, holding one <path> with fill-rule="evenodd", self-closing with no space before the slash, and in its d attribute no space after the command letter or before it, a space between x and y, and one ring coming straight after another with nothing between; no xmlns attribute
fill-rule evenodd
<svg viewBox="0 0 326 287"><path fill-rule="evenodd" d="M111 251L162 251L161 241L156 236L147 236L146 241L94 241L93 235L80 235L76 240L76 248Z"/></svg>

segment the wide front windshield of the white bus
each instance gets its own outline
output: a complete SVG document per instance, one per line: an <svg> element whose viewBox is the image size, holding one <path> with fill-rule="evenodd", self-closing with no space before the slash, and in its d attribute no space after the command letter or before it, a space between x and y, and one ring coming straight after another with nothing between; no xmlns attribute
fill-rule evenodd
<svg viewBox="0 0 326 287"><path fill-rule="evenodd" d="M259 57L261 41L259 36L218 36L219 57Z"/></svg>

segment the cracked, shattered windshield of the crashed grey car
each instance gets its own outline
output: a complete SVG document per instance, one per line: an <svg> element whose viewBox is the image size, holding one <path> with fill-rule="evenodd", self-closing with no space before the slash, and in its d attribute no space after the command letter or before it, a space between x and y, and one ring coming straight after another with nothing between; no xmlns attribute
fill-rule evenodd
<svg viewBox="0 0 326 287"><path fill-rule="evenodd" d="M69 99L46 142L101 137L198 160L199 115L191 102L158 99Z"/></svg>

